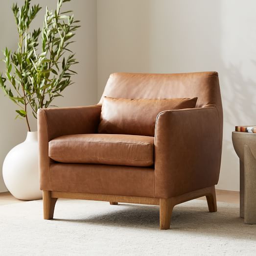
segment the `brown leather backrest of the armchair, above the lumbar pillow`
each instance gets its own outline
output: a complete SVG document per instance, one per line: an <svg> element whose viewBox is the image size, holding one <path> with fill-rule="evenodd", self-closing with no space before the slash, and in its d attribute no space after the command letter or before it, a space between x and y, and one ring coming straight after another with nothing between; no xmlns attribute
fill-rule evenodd
<svg viewBox="0 0 256 256"><path fill-rule="evenodd" d="M193 98L196 107L216 106L220 130L223 113L217 72L192 72L177 74L113 73L102 94L114 98Z"/></svg>

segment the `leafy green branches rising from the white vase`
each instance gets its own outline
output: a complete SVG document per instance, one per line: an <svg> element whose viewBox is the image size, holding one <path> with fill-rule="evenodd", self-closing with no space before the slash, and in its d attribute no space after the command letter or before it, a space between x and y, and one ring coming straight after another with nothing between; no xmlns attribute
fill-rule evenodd
<svg viewBox="0 0 256 256"><path fill-rule="evenodd" d="M16 117L25 118L28 131L29 109L37 118L39 108L53 106L53 99L62 96L76 73L71 66L78 62L68 47L79 21L74 20L72 11L61 12L62 4L68 1L58 0L55 11L47 9L43 28L33 31L29 28L41 9L39 4L30 6L31 0L25 0L21 8L17 3L12 6L19 33L18 49L4 50L6 68L4 75L0 74L0 87L18 106Z"/></svg>

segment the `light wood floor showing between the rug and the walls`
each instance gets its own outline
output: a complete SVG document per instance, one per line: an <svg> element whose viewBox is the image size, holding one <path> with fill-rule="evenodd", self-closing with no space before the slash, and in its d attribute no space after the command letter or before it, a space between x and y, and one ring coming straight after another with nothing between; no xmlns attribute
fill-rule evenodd
<svg viewBox="0 0 256 256"><path fill-rule="evenodd" d="M228 190L216 190L216 198L219 202L226 202L226 203L239 203L239 192L238 191L228 191ZM201 197L199 200L206 200L206 197ZM10 205L10 204L17 204L23 203L26 201L16 199L14 196L10 194L10 192L3 192L0 193L0 206L1 205Z"/></svg>

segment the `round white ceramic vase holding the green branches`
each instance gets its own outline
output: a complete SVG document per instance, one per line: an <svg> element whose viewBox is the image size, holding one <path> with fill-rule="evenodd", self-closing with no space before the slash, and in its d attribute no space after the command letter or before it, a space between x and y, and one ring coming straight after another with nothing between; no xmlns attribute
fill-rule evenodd
<svg viewBox="0 0 256 256"><path fill-rule="evenodd" d="M42 199L39 189L37 132L27 132L24 142L7 154L2 166L5 186L21 200Z"/></svg>

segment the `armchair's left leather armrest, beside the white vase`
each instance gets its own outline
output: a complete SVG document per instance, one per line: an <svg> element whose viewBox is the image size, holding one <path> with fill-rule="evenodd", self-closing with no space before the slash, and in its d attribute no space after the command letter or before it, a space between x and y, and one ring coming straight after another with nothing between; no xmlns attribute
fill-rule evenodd
<svg viewBox="0 0 256 256"><path fill-rule="evenodd" d="M39 109L37 112L40 188L50 190L48 142L70 134L96 133L101 105Z"/></svg>

